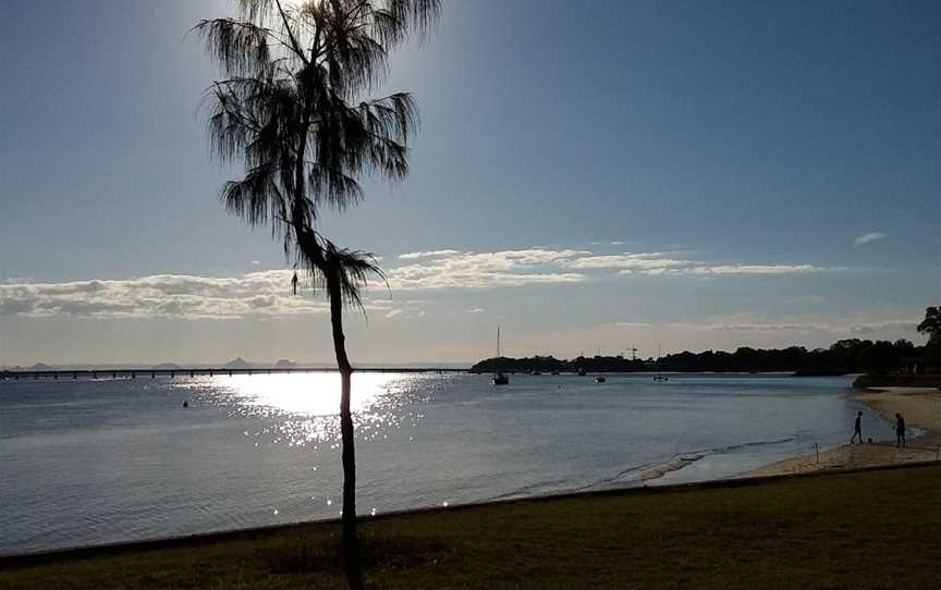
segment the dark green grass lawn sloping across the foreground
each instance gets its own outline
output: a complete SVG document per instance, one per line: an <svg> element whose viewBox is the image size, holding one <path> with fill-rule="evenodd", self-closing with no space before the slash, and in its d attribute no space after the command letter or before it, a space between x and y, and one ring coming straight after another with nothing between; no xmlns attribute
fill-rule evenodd
<svg viewBox="0 0 941 590"><path fill-rule="evenodd" d="M939 588L941 467L362 525L370 588ZM2 531L0 531L2 533ZM0 588L342 588L339 525L0 561Z"/></svg>

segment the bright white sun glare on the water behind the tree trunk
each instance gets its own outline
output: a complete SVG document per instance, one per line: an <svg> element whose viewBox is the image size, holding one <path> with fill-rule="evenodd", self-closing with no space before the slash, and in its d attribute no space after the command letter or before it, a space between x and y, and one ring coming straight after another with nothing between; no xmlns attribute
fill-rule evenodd
<svg viewBox="0 0 941 590"><path fill-rule="evenodd" d="M382 439L404 422L416 426L423 415L404 406L433 400L440 386L440 378L436 382L426 376L354 373L351 408L357 438ZM289 446L339 447L339 373L211 377L178 388L192 390L204 403L233 408L232 416L271 420L254 433L245 431L246 437L266 435L273 444Z"/></svg>

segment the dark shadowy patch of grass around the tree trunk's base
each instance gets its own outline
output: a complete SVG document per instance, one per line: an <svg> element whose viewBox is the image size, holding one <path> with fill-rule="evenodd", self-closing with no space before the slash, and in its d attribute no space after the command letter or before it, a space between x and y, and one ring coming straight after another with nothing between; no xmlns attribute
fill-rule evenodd
<svg viewBox="0 0 941 590"><path fill-rule="evenodd" d="M443 542L411 537L367 534L359 539L365 569L412 569L433 565L448 556ZM342 574L340 538L308 539L298 534L259 551L261 562L274 574Z"/></svg>

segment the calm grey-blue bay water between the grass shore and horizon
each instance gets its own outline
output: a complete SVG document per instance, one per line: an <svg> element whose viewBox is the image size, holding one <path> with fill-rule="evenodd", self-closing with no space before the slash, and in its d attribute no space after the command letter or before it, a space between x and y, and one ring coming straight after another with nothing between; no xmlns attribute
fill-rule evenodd
<svg viewBox="0 0 941 590"><path fill-rule="evenodd" d="M357 374L358 512L728 477L842 444L847 385ZM0 553L337 517L338 390L300 373L0 382Z"/></svg>

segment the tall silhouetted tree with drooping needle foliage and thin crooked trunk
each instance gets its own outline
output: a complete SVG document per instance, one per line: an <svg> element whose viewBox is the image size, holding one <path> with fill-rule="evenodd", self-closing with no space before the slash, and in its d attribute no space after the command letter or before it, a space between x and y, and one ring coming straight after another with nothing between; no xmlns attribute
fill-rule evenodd
<svg viewBox="0 0 941 590"><path fill-rule="evenodd" d="M412 34L425 38L439 0L235 0L234 19L194 30L223 79L207 90L211 152L244 167L225 183L222 205L249 225L267 225L316 288L330 299L341 374L342 553L351 588L363 588L356 538L356 462L350 410L352 364L343 309L362 309L367 279L381 276L370 255L335 246L320 233L326 206L344 211L363 199L359 179L408 172L407 142L418 124L412 96L368 95L384 81L390 51ZM296 274L295 274L296 276Z"/></svg>

